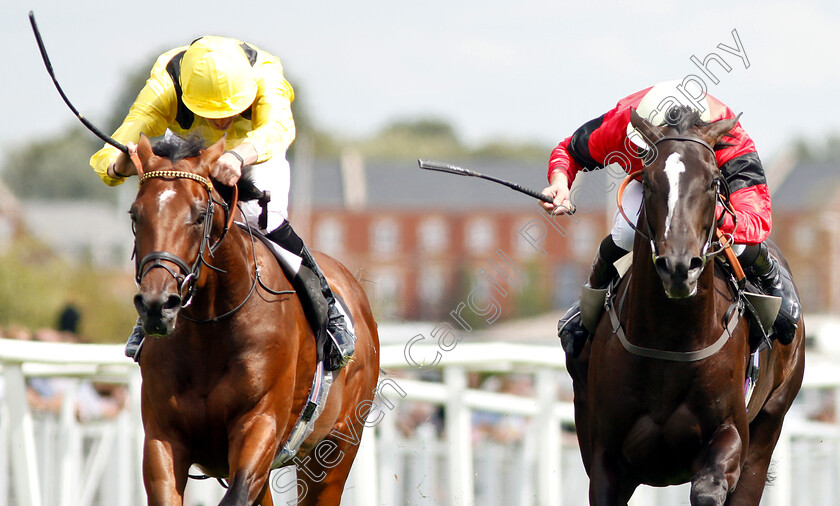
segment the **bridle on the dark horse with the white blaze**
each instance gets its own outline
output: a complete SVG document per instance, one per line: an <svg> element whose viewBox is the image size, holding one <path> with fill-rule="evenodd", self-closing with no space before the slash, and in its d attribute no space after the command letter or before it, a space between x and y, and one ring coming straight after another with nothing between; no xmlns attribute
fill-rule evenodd
<svg viewBox="0 0 840 506"><path fill-rule="evenodd" d="M660 137L659 139L657 139L653 143L653 146L655 147L657 144L659 144L660 142L664 142L664 141L695 142L697 144L700 144L704 148L708 149L712 153L712 156L715 155L714 148L712 148L712 146L710 146L708 142L706 142L702 139L697 139L695 137L680 137L680 136ZM624 207L621 205L622 197L624 195L624 190L627 188L627 185L630 183L630 181L638 179L641 176L641 173L642 173L642 171L640 169L640 170L633 171L633 172L631 172L630 174L627 175L627 177L621 183L621 186L619 186L618 193L616 193L616 203L618 205L618 211L621 213L621 216L624 218L624 220L627 221L627 223L633 228L633 230L636 231L636 233L638 233L639 235L641 235L642 237L644 237L645 239L650 241L650 250L651 250L651 253L653 254L654 260L656 260L656 258L658 256L657 255L658 248L656 247L656 241L653 240L653 232L651 231L651 228L650 228L650 222L647 220L647 213L645 213L645 228L647 229L647 233L645 233L645 232L642 232L641 230L639 230L639 228L636 226L636 224L633 223L633 221L624 212ZM726 183L726 180L723 178L723 176L717 176L714 179L714 183L715 183L715 202L720 202L723 206L724 213L732 216L733 223L737 224L737 219L736 219L736 216L735 216L735 212L732 210L731 205L729 204L729 185ZM721 214L720 218L717 219L717 220L714 220L712 222L712 224L709 226L709 233L706 237L706 242L703 244L703 248L702 248L702 251L701 251L701 258L703 259L703 266L706 265L709 258L712 258L715 255L718 255L719 253L724 251L727 247L731 246L734 242L733 235L731 233L721 232L720 233L721 239L719 239L717 241L717 246L714 249L712 249L712 246L716 242L714 240L715 239L715 232L722 225L723 218L724 218L724 215ZM723 242L721 242L721 241L723 241Z"/></svg>

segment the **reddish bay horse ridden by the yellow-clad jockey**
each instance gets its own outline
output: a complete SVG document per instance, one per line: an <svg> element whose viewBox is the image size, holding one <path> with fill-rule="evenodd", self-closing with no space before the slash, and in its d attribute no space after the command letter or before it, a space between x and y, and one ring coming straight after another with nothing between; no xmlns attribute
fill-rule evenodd
<svg viewBox="0 0 840 506"><path fill-rule="evenodd" d="M182 504L196 464L228 480L220 504L270 505L270 467L307 407L315 336L275 257L228 228L232 211L209 176L224 141L180 159L158 156L159 146L139 142L145 174L130 211L135 305L151 336L140 357L148 502ZM356 352L334 372L294 462L299 504L336 505L371 408L379 337L359 283L332 258L317 258L355 318Z"/></svg>

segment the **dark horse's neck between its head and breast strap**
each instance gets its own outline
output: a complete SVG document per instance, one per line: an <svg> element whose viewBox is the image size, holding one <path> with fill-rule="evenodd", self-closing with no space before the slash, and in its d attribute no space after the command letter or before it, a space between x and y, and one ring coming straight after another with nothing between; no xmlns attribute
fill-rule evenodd
<svg viewBox="0 0 840 506"><path fill-rule="evenodd" d="M685 338L703 338L715 324L714 264L706 265L697 280L697 293L686 299L671 299L665 295L662 279L651 259L650 245L639 241L633 251L630 286L628 287L629 331L656 339L663 329L673 329ZM654 331L655 329L655 331ZM692 332L697 330L697 332ZM691 336L691 337L689 337ZM639 343L637 343L639 344Z"/></svg>

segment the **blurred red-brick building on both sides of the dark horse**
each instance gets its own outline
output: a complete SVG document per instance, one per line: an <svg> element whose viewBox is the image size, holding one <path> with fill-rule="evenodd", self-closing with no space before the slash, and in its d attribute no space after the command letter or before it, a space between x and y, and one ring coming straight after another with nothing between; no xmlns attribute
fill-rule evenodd
<svg viewBox="0 0 840 506"><path fill-rule="evenodd" d="M536 190L546 186L538 161L461 164ZM364 280L378 315L444 318L465 304L479 323L563 309L578 297L610 229L622 175L581 174L573 191L578 213L552 222L530 197L420 170L416 160L336 160L302 172L297 167L293 176L304 185L296 180L292 190L293 225ZM840 313L838 167L793 163L770 186L771 237L791 264L806 312ZM306 206L301 195L311 196Z"/></svg>

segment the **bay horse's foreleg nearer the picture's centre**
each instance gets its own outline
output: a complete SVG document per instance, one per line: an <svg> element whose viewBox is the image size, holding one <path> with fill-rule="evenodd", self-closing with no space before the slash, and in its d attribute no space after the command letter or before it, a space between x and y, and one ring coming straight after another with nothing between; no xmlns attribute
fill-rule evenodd
<svg viewBox="0 0 840 506"><path fill-rule="evenodd" d="M277 451L274 419L253 416L230 434L228 468L230 485L219 506L257 504L270 496L268 476Z"/></svg>

